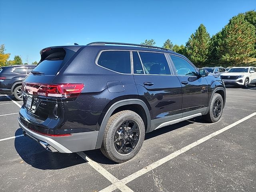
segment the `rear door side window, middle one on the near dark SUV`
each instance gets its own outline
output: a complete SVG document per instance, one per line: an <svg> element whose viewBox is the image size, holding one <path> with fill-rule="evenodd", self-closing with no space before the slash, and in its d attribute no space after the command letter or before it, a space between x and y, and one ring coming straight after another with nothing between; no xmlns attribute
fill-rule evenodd
<svg viewBox="0 0 256 192"><path fill-rule="evenodd" d="M162 53L139 52L145 74L170 75L166 57Z"/></svg>

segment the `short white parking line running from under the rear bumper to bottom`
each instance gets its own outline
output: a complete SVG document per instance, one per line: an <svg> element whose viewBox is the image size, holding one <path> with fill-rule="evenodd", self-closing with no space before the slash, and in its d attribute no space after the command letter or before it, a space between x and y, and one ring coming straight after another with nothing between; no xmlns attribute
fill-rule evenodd
<svg viewBox="0 0 256 192"><path fill-rule="evenodd" d="M92 166L92 168L94 168L96 171L98 171L102 176L104 176L107 180L109 180L112 183L112 190L119 189L122 192L133 192L133 190L131 190L122 181L120 181L118 178L116 178L114 175L112 175L110 172L108 172L106 169L100 166L100 164L91 160L84 152L77 152L77 154L84 160L86 160L88 164Z"/></svg>

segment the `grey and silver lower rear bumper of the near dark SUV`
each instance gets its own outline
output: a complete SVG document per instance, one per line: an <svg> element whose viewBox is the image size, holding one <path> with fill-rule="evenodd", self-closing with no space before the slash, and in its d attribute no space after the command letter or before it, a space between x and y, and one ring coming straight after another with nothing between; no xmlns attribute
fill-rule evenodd
<svg viewBox="0 0 256 192"><path fill-rule="evenodd" d="M96 148L98 131L74 133L71 136L44 136L28 129L20 119L19 126L22 128L25 136L39 142L46 150L51 152L73 153Z"/></svg>

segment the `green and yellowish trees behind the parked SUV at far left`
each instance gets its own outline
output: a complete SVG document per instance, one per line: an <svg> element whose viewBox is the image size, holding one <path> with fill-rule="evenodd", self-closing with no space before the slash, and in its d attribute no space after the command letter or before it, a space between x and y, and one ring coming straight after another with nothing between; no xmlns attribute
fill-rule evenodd
<svg viewBox="0 0 256 192"><path fill-rule="evenodd" d="M5 53L5 46L2 44L0 46L0 67L1 66L10 66L10 65L22 65L22 58L19 55L15 55L13 60L9 60L10 53ZM28 64L28 63L24 63ZM37 65L38 62L34 61L32 64Z"/></svg>

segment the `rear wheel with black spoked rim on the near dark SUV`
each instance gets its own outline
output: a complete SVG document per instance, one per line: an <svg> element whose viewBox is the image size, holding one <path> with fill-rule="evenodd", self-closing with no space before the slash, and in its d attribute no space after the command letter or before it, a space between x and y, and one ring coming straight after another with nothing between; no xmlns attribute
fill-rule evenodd
<svg viewBox="0 0 256 192"><path fill-rule="evenodd" d="M130 110L120 111L109 118L100 150L114 162L126 162L140 151L144 138L142 118Z"/></svg>

